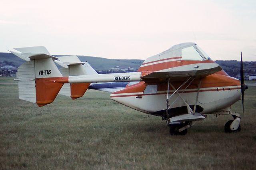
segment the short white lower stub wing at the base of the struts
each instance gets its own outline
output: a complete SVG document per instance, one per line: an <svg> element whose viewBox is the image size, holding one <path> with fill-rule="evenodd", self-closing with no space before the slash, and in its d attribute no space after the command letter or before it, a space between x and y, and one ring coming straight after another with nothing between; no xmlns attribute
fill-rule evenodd
<svg viewBox="0 0 256 170"><path fill-rule="evenodd" d="M200 121L205 117L200 113L184 114L170 118L170 122Z"/></svg>

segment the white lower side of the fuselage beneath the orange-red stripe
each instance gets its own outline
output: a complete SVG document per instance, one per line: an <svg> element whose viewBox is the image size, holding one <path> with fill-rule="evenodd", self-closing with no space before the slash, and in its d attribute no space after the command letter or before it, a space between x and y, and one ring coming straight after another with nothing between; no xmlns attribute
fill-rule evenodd
<svg viewBox="0 0 256 170"><path fill-rule="evenodd" d="M233 86L238 87L238 86ZM216 89L217 87L215 87ZM187 89L190 91L190 89ZM188 101L189 105L194 105L194 101L196 100L196 91L192 93L180 93L184 100ZM130 93L127 93L130 94ZM133 95L140 95L141 93L135 93ZM118 94L118 95L126 95L126 93ZM125 96L125 97L113 97L118 96L117 94L111 94L110 98L118 103L122 103L128 107L136 109L138 111L142 111L144 113L154 113L156 111L161 111L166 109L166 94L156 94L156 95L143 95L142 99L137 99L137 96ZM218 111L220 109L224 109L229 107L234 102L240 100L241 91L234 90L220 90L220 91L204 91L199 92L198 95L198 105L204 108L204 113L212 113ZM178 99L177 99L178 98ZM176 100L177 99L177 100ZM172 104L174 101L176 102ZM169 104L171 108L185 106L184 101L178 97L177 94L174 94L169 99Z"/></svg>

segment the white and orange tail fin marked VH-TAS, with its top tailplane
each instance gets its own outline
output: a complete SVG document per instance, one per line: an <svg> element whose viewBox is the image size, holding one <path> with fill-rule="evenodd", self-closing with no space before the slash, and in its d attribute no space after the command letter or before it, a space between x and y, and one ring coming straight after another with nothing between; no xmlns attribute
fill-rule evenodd
<svg viewBox="0 0 256 170"><path fill-rule="evenodd" d="M17 78L19 99L36 103L39 107L52 103L63 83L51 80L67 79L54 64L53 57L43 46L16 48L20 53L10 51L26 60L18 67Z"/></svg>

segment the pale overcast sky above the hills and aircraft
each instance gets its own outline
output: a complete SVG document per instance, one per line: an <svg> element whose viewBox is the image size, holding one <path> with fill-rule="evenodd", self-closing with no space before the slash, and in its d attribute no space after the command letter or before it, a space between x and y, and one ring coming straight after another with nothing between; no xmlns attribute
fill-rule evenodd
<svg viewBox="0 0 256 170"><path fill-rule="evenodd" d="M0 52L146 59L196 42L214 60L256 61L255 0L1 0Z"/></svg>

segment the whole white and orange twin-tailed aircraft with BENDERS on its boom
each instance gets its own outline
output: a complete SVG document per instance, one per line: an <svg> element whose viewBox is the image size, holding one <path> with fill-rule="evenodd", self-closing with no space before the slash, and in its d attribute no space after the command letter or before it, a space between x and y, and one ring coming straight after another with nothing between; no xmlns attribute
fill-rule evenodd
<svg viewBox="0 0 256 170"><path fill-rule="evenodd" d="M54 57L43 46L15 50L10 52L26 61L18 68L15 79L19 99L39 107L52 103L60 89L61 94L77 99L84 95L90 83L113 82L114 86L115 82L130 82L112 92L110 99L162 117L170 126L170 134L186 134L189 127L207 115L232 115L234 119L226 123L225 131L241 129L240 115L231 111L231 105L241 95L244 103L247 89L242 53L240 82L228 76L196 43L173 45L147 58L137 72L111 74L96 74L76 56ZM54 61L64 68L59 71Z"/></svg>

